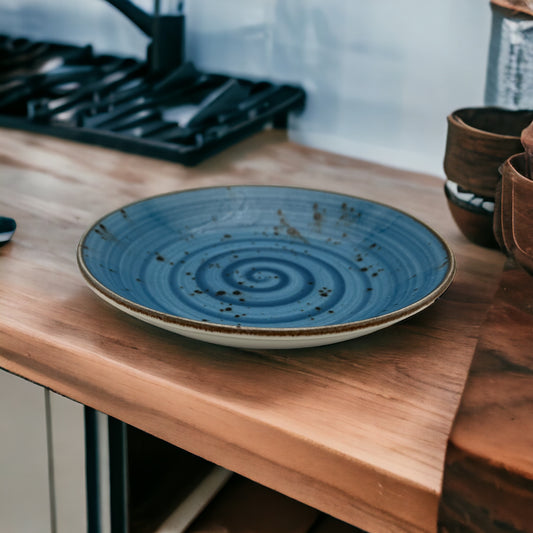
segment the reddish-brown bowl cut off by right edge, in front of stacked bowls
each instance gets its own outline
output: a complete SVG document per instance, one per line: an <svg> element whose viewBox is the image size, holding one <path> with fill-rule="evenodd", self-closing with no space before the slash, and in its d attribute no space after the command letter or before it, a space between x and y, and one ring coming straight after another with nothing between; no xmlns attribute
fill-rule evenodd
<svg viewBox="0 0 533 533"><path fill-rule="evenodd" d="M525 154L508 158L496 191L494 235L501 249L533 275L533 181Z"/></svg>

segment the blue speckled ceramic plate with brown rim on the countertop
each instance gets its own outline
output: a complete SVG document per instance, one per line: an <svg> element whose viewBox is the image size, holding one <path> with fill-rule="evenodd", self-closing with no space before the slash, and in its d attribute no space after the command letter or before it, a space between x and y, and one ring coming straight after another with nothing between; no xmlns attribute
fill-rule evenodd
<svg viewBox="0 0 533 533"><path fill-rule="evenodd" d="M323 191L235 186L149 198L83 236L78 264L104 300L217 344L297 348L389 326L449 286L455 261L428 226Z"/></svg>

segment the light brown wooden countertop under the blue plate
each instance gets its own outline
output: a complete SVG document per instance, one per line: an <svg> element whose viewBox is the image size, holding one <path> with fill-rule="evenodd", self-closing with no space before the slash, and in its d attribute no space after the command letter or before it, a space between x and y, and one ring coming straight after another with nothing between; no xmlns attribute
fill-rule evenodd
<svg viewBox="0 0 533 533"><path fill-rule="evenodd" d="M97 218L168 191L284 184L394 205L449 242L434 305L338 345L243 351L98 299L76 265ZM448 436L503 257L467 242L438 178L264 132L194 169L0 130L0 367L372 532L434 531Z"/></svg>

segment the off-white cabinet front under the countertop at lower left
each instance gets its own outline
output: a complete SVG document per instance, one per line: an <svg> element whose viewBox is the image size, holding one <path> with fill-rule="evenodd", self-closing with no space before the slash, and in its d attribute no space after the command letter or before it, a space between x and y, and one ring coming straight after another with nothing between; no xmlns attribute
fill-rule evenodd
<svg viewBox="0 0 533 533"><path fill-rule="evenodd" d="M85 531L84 438L83 406L0 370L0 531Z"/></svg>

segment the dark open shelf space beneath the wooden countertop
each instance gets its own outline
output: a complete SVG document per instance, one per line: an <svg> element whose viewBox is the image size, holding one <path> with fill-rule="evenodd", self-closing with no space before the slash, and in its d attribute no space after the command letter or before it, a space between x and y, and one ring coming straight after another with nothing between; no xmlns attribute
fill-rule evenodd
<svg viewBox="0 0 533 533"><path fill-rule="evenodd" d="M126 514L124 533L362 533L147 433L123 428L126 495L112 498L112 505L124 504L118 510Z"/></svg>

